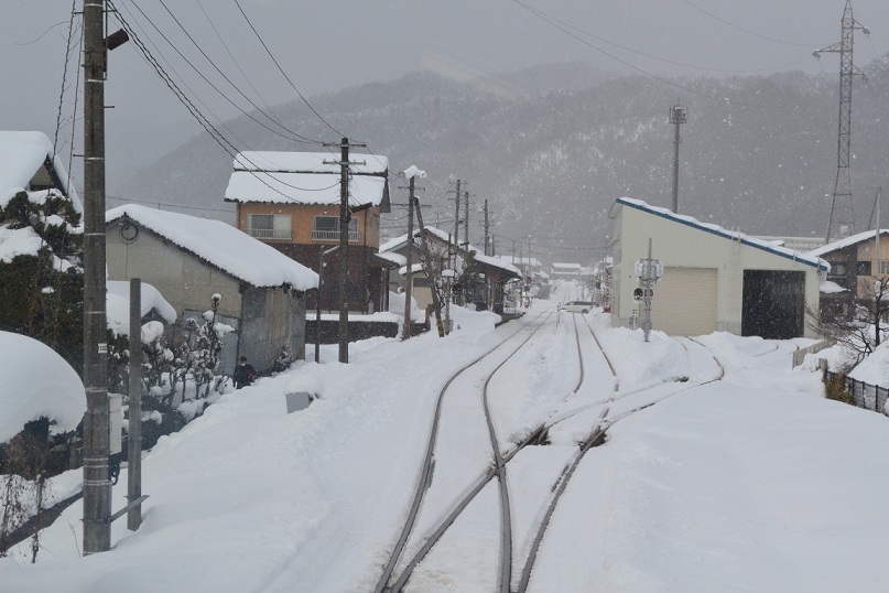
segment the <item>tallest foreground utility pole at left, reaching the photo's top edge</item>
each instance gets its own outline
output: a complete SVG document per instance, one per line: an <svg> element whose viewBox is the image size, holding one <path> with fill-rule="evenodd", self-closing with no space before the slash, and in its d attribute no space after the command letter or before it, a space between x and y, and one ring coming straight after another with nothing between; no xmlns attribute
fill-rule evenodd
<svg viewBox="0 0 889 593"><path fill-rule="evenodd" d="M105 312L105 0L84 0L84 554L111 548Z"/></svg>

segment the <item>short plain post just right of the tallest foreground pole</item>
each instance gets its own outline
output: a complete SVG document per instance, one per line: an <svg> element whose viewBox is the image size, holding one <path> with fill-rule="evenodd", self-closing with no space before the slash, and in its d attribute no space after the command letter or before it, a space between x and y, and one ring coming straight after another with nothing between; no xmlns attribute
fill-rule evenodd
<svg viewBox="0 0 889 593"><path fill-rule="evenodd" d="M127 499L142 496L142 281L130 280L130 365L129 365L129 451L127 457ZM127 529L142 525L142 505L127 511Z"/></svg>

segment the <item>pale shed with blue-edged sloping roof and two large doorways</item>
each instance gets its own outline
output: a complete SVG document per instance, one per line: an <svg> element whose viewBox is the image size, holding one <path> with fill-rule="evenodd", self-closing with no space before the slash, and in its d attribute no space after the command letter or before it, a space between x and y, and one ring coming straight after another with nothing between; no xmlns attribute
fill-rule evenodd
<svg viewBox="0 0 889 593"><path fill-rule="evenodd" d="M639 326L636 263L663 265L652 327L670 335L729 332L765 338L815 337L805 310L817 310L827 263L738 231L626 197L615 202L610 305L614 325Z"/></svg>

